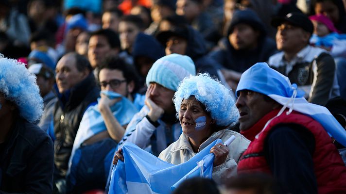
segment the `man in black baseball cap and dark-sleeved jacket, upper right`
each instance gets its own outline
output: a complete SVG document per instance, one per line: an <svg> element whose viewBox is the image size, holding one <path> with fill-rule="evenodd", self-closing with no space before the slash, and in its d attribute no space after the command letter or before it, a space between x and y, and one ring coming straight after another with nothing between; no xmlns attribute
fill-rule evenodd
<svg viewBox="0 0 346 194"><path fill-rule="evenodd" d="M311 103L324 105L340 96L333 58L309 45L313 25L308 16L290 13L275 17L272 25L277 27L277 49L282 51L271 56L268 64L304 90Z"/></svg>

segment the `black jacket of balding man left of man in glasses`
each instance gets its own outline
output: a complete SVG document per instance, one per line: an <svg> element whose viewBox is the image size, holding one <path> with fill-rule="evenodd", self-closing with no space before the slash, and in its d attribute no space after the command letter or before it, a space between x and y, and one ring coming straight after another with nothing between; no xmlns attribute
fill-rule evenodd
<svg viewBox="0 0 346 194"><path fill-rule="evenodd" d="M58 94L54 115L55 178L65 178L74 138L87 107L96 103L100 91L92 73L69 91L68 96Z"/></svg>

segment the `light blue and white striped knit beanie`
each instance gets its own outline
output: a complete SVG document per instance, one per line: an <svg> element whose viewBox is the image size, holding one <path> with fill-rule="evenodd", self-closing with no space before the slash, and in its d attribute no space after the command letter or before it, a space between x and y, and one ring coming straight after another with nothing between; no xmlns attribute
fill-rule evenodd
<svg viewBox="0 0 346 194"><path fill-rule="evenodd" d="M196 75L192 59L185 55L170 54L158 59L150 68L146 83L156 82L165 88L176 91L185 77Z"/></svg>

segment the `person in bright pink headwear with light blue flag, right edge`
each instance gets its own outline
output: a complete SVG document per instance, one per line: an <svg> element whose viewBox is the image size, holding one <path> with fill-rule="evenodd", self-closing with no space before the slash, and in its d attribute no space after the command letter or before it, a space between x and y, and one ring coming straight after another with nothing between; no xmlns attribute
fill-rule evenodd
<svg viewBox="0 0 346 194"><path fill-rule="evenodd" d="M313 24L310 44L328 50L332 57L346 58L346 34L339 34L327 16L314 15L309 19Z"/></svg>

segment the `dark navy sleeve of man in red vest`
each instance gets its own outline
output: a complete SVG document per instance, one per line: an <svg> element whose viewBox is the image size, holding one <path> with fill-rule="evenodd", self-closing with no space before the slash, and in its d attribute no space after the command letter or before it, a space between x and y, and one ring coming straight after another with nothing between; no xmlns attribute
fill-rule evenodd
<svg viewBox="0 0 346 194"><path fill-rule="evenodd" d="M264 153L274 177L288 193L317 194L312 133L299 125L281 125L272 130Z"/></svg>

